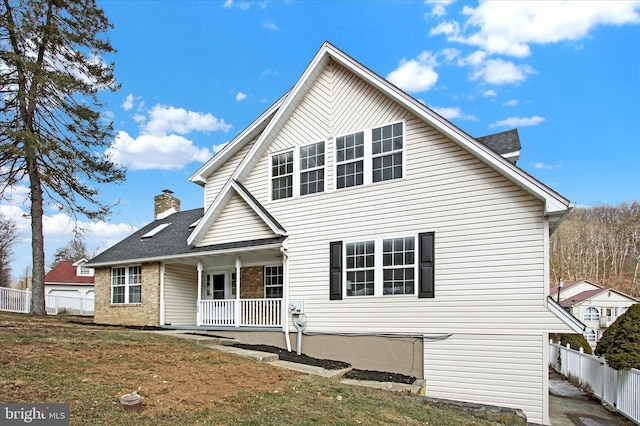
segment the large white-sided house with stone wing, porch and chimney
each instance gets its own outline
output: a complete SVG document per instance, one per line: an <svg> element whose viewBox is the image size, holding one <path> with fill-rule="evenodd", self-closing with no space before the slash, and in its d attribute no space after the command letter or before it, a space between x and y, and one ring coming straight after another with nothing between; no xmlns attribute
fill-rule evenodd
<svg viewBox="0 0 640 426"><path fill-rule="evenodd" d="M304 323L310 356L548 424L549 333L582 332L546 296L571 203L515 165L514 135L479 141L325 43L190 178L203 209L167 191L90 261L95 321L283 348Z"/></svg>

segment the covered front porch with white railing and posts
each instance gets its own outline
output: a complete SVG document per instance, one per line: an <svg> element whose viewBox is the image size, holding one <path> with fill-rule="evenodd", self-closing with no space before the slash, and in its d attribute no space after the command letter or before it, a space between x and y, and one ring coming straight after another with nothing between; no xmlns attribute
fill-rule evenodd
<svg viewBox="0 0 640 426"><path fill-rule="evenodd" d="M282 241L271 243L275 244L236 247L166 263L161 274L160 324L282 330L288 318L288 259Z"/></svg>

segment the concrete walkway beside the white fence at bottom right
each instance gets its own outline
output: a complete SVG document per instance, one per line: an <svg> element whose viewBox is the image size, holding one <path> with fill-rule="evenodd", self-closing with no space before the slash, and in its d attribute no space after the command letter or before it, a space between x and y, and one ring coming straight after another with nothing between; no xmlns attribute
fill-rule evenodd
<svg viewBox="0 0 640 426"><path fill-rule="evenodd" d="M549 371L549 417L552 426L633 426L631 420L609 411L562 375Z"/></svg>

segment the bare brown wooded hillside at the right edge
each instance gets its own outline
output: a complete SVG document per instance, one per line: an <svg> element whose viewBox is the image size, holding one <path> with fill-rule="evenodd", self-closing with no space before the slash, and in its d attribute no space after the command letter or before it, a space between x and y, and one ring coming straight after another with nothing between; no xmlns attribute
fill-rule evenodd
<svg viewBox="0 0 640 426"><path fill-rule="evenodd" d="M640 202L577 207L551 236L551 286L588 279L640 296Z"/></svg>

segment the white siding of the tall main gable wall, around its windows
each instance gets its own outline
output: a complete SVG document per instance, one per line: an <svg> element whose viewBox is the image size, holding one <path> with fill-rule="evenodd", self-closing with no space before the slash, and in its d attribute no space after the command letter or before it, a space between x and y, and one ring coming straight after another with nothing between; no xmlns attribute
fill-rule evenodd
<svg viewBox="0 0 640 426"><path fill-rule="evenodd" d="M396 122L404 123L403 178L337 190L335 138ZM304 301L307 331L451 334L435 346L425 343L428 395L428 376L439 370L455 383L477 385L483 399L522 407L530 421L543 422L542 335L571 332L545 305L543 202L335 63L270 138L242 183L287 230L289 300ZM271 202L269 155L318 140L327 142L325 193ZM435 233L434 298L330 300L331 241L421 232ZM452 373L453 360L477 368L473 381ZM521 390L512 399L498 386ZM474 391L456 396L472 400Z"/></svg>

